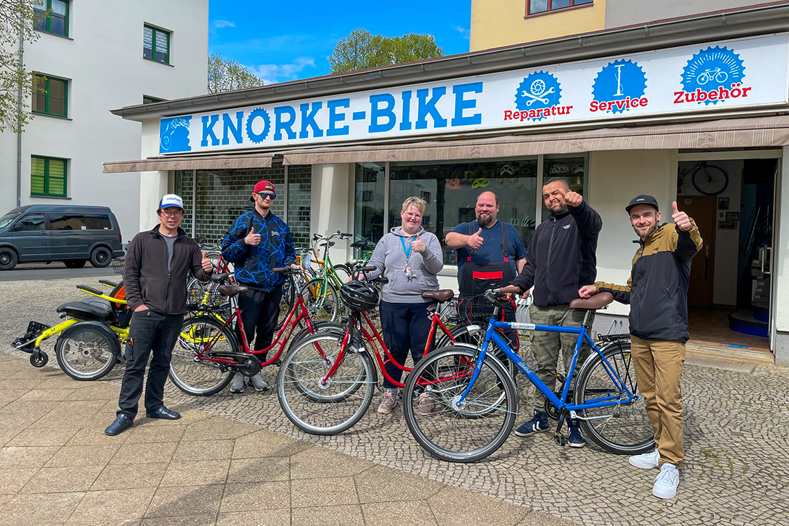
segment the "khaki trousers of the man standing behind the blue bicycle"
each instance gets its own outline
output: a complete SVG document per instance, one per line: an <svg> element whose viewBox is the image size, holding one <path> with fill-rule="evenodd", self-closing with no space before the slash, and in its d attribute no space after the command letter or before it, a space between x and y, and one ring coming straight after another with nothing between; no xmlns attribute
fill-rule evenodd
<svg viewBox="0 0 789 526"><path fill-rule="evenodd" d="M534 305L529 307L529 321L535 325L562 325L563 327L580 327L584 322L586 311L583 309L570 309L570 305L555 305L540 307ZM589 325L594 321L594 313L589 316ZM573 361L573 351L578 342L578 334L545 333L535 331L532 340L532 351L537 359L537 366L534 367L534 374L544 381L548 389L556 390L556 363L559 360L559 351L562 351L564 359L564 374L569 374L570 363ZM584 341L581 344L581 353L578 355L578 362L575 363L573 382L578 378L578 370L585 360L589 357L592 349ZM559 386L561 388L561 386ZM545 410L545 396L535 389L536 399L534 408L538 411Z"/></svg>

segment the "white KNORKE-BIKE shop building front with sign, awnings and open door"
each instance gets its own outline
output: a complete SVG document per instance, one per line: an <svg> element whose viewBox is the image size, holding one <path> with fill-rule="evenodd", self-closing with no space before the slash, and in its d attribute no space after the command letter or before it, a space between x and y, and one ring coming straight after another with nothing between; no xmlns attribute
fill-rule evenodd
<svg viewBox="0 0 789 526"><path fill-rule="evenodd" d="M651 193L664 220L678 201L705 239L691 275L692 341L789 365L780 13L764 28L730 20L694 32L678 21L651 36L623 29L125 107L114 113L142 123L142 156L105 171L142 172L140 229L175 192L189 209L185 230L209 241L269 179L273 210L301 246L338 230L376 242L412 195L427 201L424 227L443 242L473 219L484 190L528 245L548 215L542 182L559 175L603 217L598 279L615 283L636 248L624 206ZM342 242L334 250L335 261L353 257ZM457 290L454 250L444 257L441 284ZM627 313L611 306L596 329Z"/></svg>

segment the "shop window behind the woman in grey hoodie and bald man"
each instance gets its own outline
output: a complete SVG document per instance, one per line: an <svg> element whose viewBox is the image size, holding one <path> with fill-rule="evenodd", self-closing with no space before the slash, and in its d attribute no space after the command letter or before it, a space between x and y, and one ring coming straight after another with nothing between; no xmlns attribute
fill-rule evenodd
<svg viewBox="0 0 789 526"><path fill-rule="evenodd" d="M499 198L497 219L512 224L528 246L537 210L537 159L482 163L392 164L389 182L389 226L400 225L402 202L411 196L427 201L422 226L443 243L461 223L476 219L477 197L492 191ZM357 207L358 213L358 207ZM444 263L454 265L455 250L444 247Z"/></svg>

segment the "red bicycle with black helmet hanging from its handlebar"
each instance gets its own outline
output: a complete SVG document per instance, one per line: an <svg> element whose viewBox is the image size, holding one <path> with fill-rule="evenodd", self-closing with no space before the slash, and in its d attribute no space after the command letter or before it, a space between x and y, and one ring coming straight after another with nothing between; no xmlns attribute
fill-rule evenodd
<svg viewBox="0 0 789 526"><path fill-rule="evenodd" d="M365 267L370 271L375 267ZM379 278L384 282L385 278ZM357 284L357 285L354 285ZM378 373L373 363L375 355L378 369L392 385L403 387L387 374L385 365L394 363L398 369L410 372L411 368L395 360L383 338L372 324L367 310L377 305L378 292L367 305L349 301L347 292L359 287L360 282L350 282L340 288L340 299L350 310L348 323L342 330L334 328L321 331L291 345L282 359L277 376L277 395L282 411L299 429L310 434L337 434L356 424L370 407L373 391L378 384ZM447 302L454 296L451 290L423 292L424 299ZM432 348L440 329L442 342L458 344L456 337L439 314L432 314L424 354ZM471 347L469 345L469 347ZM370 351L372 348L372 353ZM386 356L384 360L381 351Z"/></svg>

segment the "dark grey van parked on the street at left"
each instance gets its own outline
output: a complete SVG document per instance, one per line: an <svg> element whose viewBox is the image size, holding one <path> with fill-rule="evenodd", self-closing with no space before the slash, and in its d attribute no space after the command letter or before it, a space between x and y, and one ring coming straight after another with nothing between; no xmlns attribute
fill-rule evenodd
<svg viewBox="0 0 789 526"><path fill-rule="evenodd" d="M27 205L0 217L0 270L30 261L106 267L122 255L121 227L106 206Z"/></svg>

